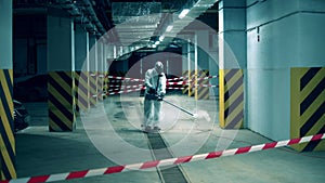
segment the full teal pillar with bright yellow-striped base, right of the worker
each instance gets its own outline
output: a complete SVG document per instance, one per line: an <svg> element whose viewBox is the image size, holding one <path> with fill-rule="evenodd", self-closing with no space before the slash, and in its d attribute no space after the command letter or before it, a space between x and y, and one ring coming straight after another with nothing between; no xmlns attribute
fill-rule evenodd
<svg viewBox="0 0 325 183"><path fill-rule="evenodd" d="M246 69L246 1L219 2L220 127L244 127Z"/></svg>

